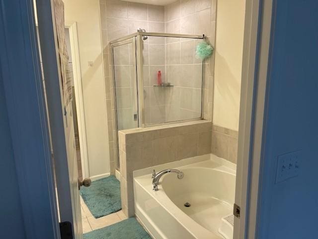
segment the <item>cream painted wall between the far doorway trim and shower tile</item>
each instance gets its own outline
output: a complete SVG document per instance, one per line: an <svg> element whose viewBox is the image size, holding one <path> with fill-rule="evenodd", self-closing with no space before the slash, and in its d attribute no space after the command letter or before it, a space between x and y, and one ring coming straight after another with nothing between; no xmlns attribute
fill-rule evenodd
<svg viewBox="0 0 318 239"><path fill-rule="evenodd" d="M77 22L89 176L109 173L106 93L102 67L99 0L64 0L65 21ZM93 66L88 66L88 61Z"/></svg>

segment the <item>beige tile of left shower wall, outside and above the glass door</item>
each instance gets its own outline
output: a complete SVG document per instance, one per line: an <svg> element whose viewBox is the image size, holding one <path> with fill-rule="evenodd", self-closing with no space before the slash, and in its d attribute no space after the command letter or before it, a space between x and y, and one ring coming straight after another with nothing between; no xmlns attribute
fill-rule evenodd
<svg viewBox="0 0 318 239"><path fill-rule="evenodd" d="M106 86L106 108L110 152L110 172L115 173L117 160L117 133L115 97L112 71L110 68L109 42L136 32L137 28L147 31L164 31L164 7L141 3L100 0L101 36L103 47L104 77Z"/></svg>

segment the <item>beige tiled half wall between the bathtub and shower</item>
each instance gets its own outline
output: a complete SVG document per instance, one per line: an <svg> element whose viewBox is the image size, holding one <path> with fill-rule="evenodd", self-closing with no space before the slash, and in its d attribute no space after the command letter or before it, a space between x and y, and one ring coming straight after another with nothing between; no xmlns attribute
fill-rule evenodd
<svg viewBox="0 0 318 239"><path fill-rule="evenodd" d="M134 216L133 171L211 152L207 120L121 130L119 159L123 212Z"/></svg>

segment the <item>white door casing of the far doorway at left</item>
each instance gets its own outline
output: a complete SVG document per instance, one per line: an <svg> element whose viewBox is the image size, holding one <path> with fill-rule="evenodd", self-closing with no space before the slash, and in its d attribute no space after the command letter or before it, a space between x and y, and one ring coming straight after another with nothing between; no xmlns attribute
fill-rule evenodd
<svg viewBox="0 0 318 239"><path fill-rule="evenodd" d="M76 111L77 111L78 128L79 128L79 151L80 151L80 161L81 161L81 167L82 167L82 176L83 178L88 178L89 165L88 165L88 153L87 153L87 137L86 137L86 127L85 127L83 90L82 90L81 73L80 73L77 22L66 22L65 27L68 28L70 32L70 45L71 45L71 51L72 51L72 63L73 63L72 67L73 67Z"/></svg>

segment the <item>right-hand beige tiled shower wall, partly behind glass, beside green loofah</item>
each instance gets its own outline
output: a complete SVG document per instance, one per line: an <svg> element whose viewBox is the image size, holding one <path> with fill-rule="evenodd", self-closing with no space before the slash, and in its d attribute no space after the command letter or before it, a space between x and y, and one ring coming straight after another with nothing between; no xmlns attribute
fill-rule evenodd
<svg viewBox="0 0 318 239"><path fill-rule="evenodd" d="M214 46L216 0L177 0L165 6L167 33L207 36ZM199 39L166 41L166 78L174 85L167 97L167 120L201 117L202 61L195 57ZM204 65L204 119L212 120L214 55Z"/></svg>

